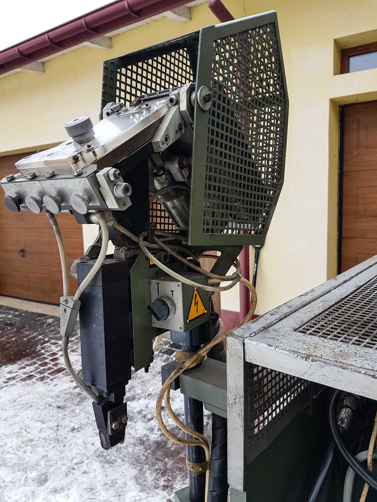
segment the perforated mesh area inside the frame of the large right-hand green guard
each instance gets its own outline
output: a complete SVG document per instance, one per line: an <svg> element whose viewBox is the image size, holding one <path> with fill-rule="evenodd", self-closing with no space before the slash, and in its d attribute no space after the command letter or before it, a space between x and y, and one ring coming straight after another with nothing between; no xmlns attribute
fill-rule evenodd
<svg viewBox="0 0 377 502"><path fill-rule="evenodd" d="M282 179L285 91L273 23L214 43L204 233L263 235Z"/></svg>

